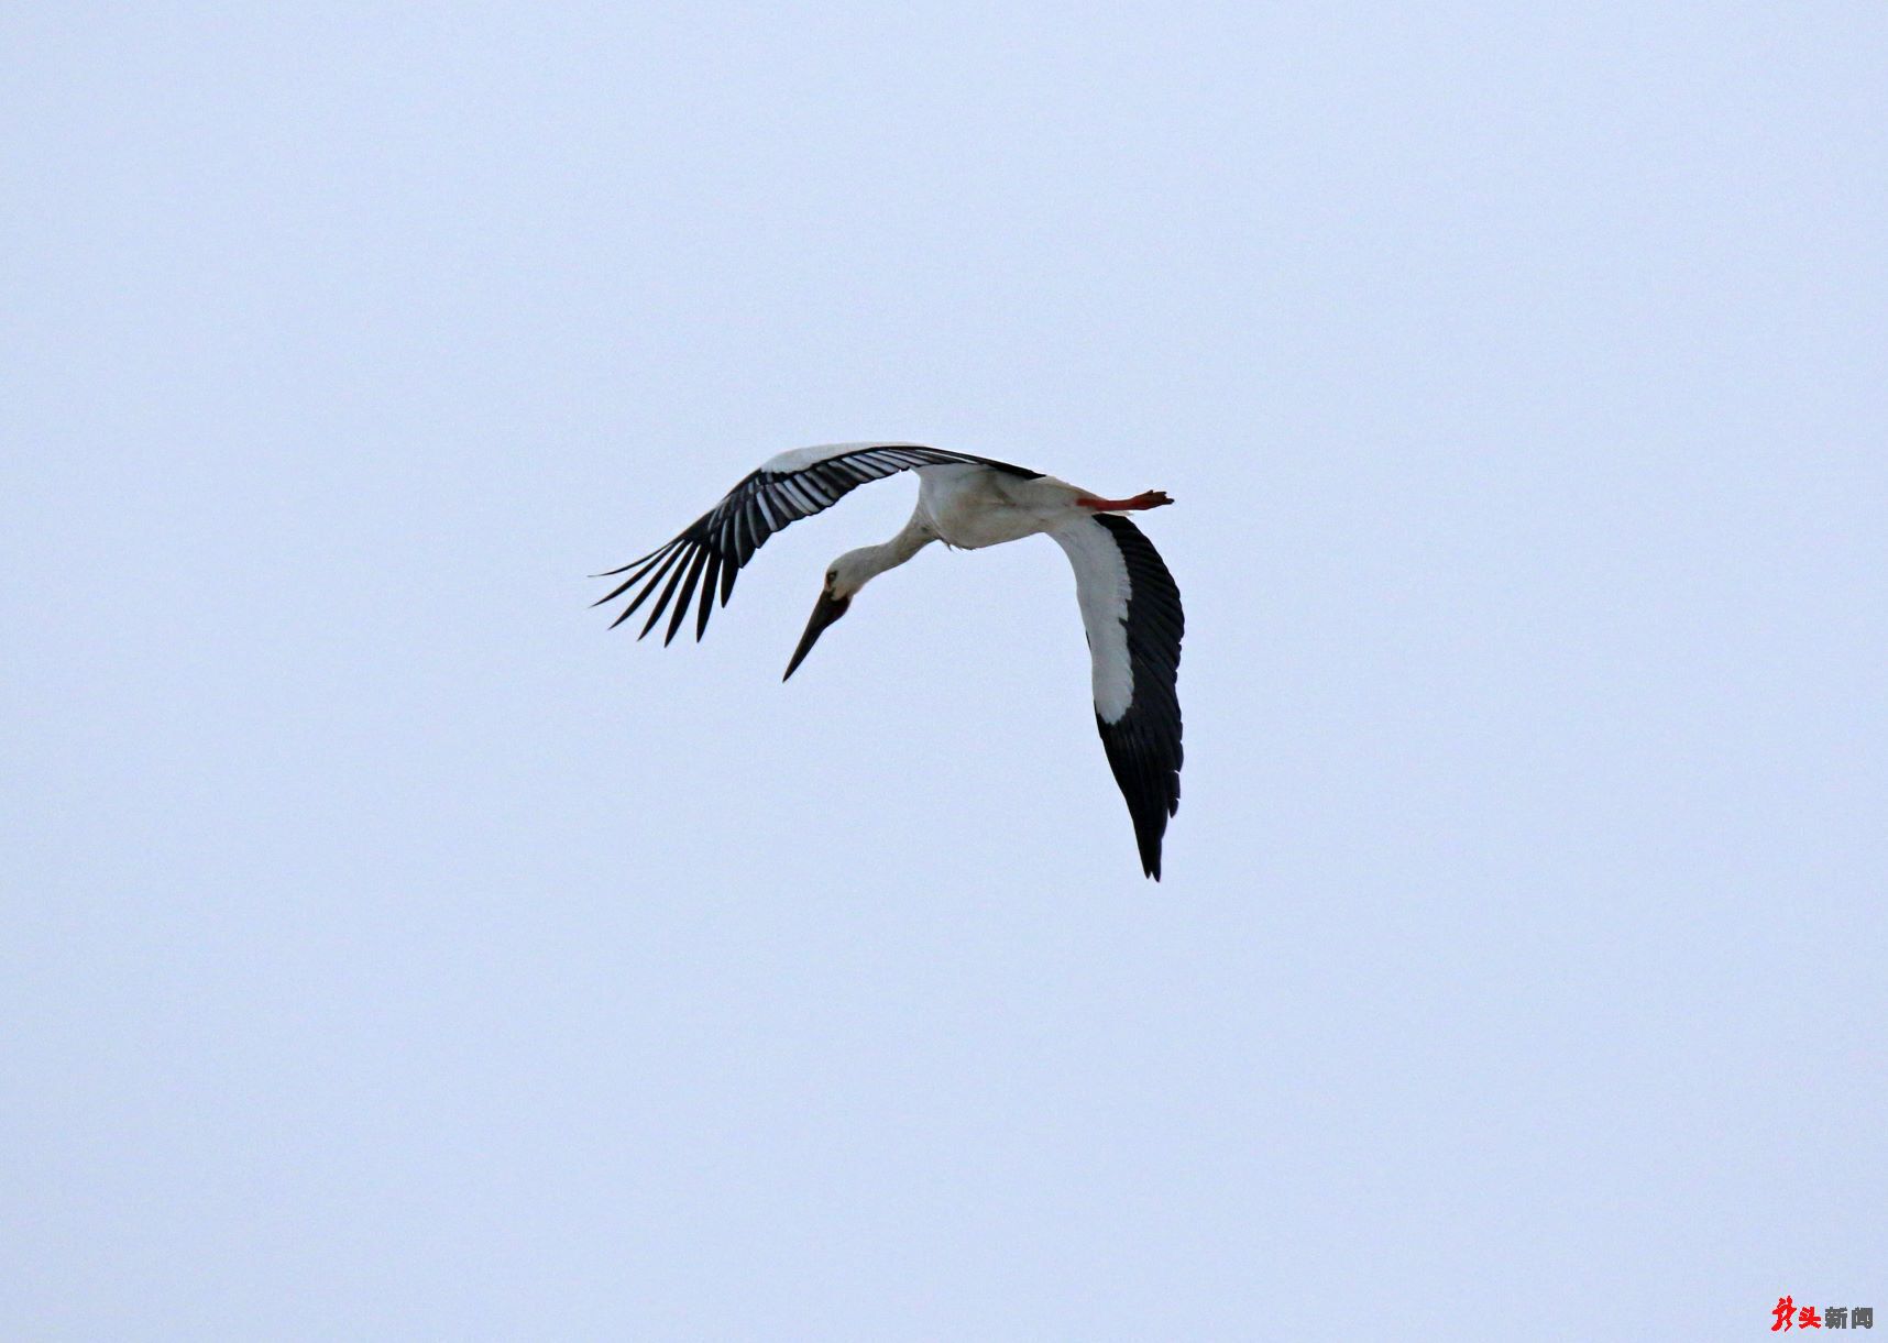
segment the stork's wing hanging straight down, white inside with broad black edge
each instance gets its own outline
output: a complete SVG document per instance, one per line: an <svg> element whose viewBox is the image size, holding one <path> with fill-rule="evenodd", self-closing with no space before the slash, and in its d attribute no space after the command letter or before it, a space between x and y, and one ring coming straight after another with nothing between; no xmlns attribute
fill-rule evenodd
<svg viewBox="0 0 1888 1343"><path fill-rule="evenodd" d="M1135 819L1140 868L1161 879L1161 836L1180 811L1180 589L1140 528L1097 513L1050 532L1074 566L1095 664L1095 726Z"/></svg>

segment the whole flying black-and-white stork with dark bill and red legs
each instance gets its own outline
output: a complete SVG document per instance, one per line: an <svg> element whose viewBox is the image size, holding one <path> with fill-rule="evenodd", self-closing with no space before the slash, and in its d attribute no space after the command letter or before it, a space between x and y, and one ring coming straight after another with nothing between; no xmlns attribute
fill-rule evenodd
<svg viewBox="0 0 1888 1343"><path fill-rule="evenodd" d="M1097 498L1054 475L918 443L802 447L765 462L668 545L597 575L629 575L597 605L642 585L610 624L615 628L661 589L642 634L653 630L674 602L663 639L668 643L700 587L695 613L695 638L700 639L716 589L721 590L721 605L727 605L734 575L768 536L833 507L867 481L899 472L918 472L912 519L884 545L846 551L827 566L819 602L785 675L791 677L819 634L846 615L859 589L931 541L974 551L1046 532L1074 566L1076 602L1095 672L1095 726L1135 821L1140 868L1159 881L1161 836L1167 834L1167 817L1180 809L1180 700L1174 681L1184 617L1180 590L1159 553L1140 528L1121 517L1172 504L1159 490L1129 500Z"/></svg>

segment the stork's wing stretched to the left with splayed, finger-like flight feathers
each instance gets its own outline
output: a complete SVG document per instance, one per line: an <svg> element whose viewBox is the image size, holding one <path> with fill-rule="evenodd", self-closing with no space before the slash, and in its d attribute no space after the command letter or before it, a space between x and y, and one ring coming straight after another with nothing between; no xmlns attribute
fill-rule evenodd
<svg viewBox="0 0 1888 1343"><path fill-rule="evenodd" d="M867 481L878 481L919 466L946 466L952 462L989 466L991 470L1025 479L1040 475L1040 472L1029 472L1008 462L993 462L987 456L946 453L918 443L833 443L780 453L731 489L719 504L695 519L693 526L674 541L644 555L640 560L631 560L619 570L598 573L597 577L615 577L617 573L627 573L629 577L593 605L614 602L642 583L642 590L610 622L614 630L661 587L663 594L655 598L655 605L649 607L649 619L642 626L642 634L648 634L663 619L663 611L668 609L670 600L680 592L680 600L674 602L674 615L668 617L668 634L663 638L663 643L668 643L676 638L676 630L682 628L699 585L702 596L700 607L695 613L695 638L700 639L708 628L708 611L714 605L716 587L721 589L721 605L727 605L727 598L734 590L734 575L740 572L740 566L753 558L755 551L767 545L768 536L789 522L799 522L802 517L823 513ZM636 638L640 639L642 634Z"/></svg>

